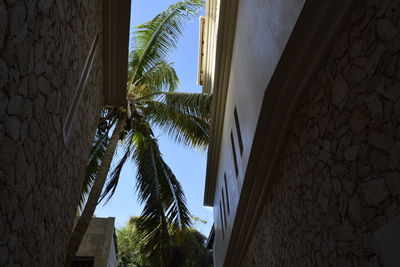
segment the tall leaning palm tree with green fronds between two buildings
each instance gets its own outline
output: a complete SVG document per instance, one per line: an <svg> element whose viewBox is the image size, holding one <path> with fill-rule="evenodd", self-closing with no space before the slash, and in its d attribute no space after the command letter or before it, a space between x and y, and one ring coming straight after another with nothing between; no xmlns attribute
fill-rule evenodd
<svg viewBox="0 0 400 267"><path fill-rule="evenodd" d="M176 230L190 225L182 188L162 158L152 127L189 147L205 149L208 145L211 96L175 92L178 77L166 60L176 48L184 21L196 15L201 5L202 0L178 2L136 27L129 59L128 104L126 108L105 107L101 112L82 189L83 212L70 238L66 266L79 248L96 205L115 192L127 160L137 166L137 192L144 205L138 222L140 238L160 266L168 264L170 255L168 225ZM123 154L109 173L117 146Z"/></svg>

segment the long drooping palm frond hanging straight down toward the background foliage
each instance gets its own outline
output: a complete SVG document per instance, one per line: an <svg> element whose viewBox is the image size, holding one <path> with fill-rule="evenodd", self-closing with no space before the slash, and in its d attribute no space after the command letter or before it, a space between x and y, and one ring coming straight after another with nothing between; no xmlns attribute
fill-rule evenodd
<svg viewBox="0 0 400 267"><path fill-rule="evenodd" d="M167 259L168 224L190 225L190 213L182 188L162 158L157 140L150 131L135 133L134 160L137 165L137 191L144 209L138 221L145 251Z"/></svg>

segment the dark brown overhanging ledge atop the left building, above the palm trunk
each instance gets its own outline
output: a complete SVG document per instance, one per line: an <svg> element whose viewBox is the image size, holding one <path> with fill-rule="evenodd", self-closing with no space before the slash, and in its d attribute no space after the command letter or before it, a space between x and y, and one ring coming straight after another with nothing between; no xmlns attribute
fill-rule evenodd
<svg viewBox="0 0 400 267"><path fill-rule="evenodd" d="M130 13L130 0L103 0L104 105L126 105Z"/></svg>

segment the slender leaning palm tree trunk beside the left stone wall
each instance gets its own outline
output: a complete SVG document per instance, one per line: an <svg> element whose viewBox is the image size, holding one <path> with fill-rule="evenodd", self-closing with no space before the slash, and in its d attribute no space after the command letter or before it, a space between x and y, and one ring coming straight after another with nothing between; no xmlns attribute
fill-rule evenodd
<svg viewBox="0 0 400 267"><path fill-rule="evenodd" d="M125 123L126 123L126 114L122 113L121 117L118 118L117 125L115 126L114 132L110 139L110 143L108 144L107 150L104 154L96 180L94 181L89 197L87 199L85 209L83 210L82 215L79 218L79 221L76 224L74 231L72 232L71 238L69 240L65 267L71 266L73 257L78 251L83 236L85 235L90 220L92 219L93 213L96 209L99 197L101 195L101 191L106 181L108 171L110 169L111 161L113 159L119 137L124 129Z"/></svg>

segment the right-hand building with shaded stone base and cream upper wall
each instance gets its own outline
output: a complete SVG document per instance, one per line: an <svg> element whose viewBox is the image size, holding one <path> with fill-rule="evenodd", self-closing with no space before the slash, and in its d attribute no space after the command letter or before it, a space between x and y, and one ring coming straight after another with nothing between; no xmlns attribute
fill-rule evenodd
<svg viewBox="0 0 400 267"><path fill-rule="evenodd" d="M207 10L215 265L399 266L399 2Z"/></svg>

